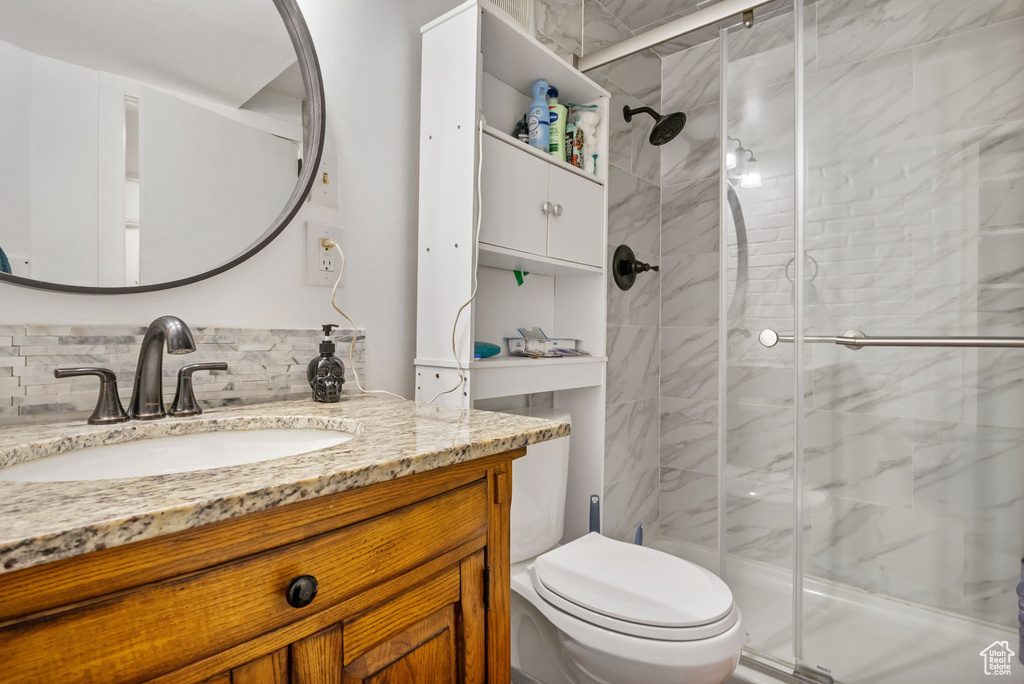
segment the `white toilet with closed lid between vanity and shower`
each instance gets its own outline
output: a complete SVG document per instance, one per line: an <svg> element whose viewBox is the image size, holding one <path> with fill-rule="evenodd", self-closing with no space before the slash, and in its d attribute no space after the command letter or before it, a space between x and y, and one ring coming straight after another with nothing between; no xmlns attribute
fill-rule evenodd
<svg viewBox="0 0 1024 684"><path fill-rule="evenodd" d="M507 413L569 422L558 410ZM531 445L513 465L513 682L721 684L744 640L721 579L596 532L559 545L568 440Z"/></svg>

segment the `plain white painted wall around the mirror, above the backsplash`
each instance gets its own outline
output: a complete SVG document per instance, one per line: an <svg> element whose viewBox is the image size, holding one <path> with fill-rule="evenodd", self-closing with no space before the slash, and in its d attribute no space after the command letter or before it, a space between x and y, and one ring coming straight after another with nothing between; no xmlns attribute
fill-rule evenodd
<svg viewBox="0 0 1024 684"><path fill-rule="evenodd" d="M412 396L416 325L419 28L459 0L301 0L324 72L328 151L339 155L341 209L307 206L263 252L185 288L117 297L0 284L0 323L130 323L173 313L193 325L307 327L340 316L330 288L307 287L302 221L346 228L339 297L367 329L375 387Z"/></svg>

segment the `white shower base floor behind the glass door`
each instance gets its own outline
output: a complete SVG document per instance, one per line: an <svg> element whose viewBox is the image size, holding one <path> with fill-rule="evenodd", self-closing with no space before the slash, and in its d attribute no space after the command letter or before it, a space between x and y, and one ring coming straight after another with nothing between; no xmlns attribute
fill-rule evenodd
<svg viewBox="0 0 1024 684"><path fill-rule="evenodd" d="M650 546L718 570L718 555L707 547L668 537ZM792 664L792 572L730 556L727 581L742 611L751 654L760 651ZM1018 661L1010 677L984 673L980 653L989 644L1008 641L1018 650L1010 628L813 578L804 581L803 633L806 662L827 668L844 684L1024 681L1024 665Z"/></svg>

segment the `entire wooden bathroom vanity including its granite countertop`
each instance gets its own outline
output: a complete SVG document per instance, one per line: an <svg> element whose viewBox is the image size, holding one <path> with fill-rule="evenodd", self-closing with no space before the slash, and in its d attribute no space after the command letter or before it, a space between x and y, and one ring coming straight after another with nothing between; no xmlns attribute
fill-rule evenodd
<svg viewBox="0 0 1024 684"><path fill-rule="evenodd" d="M0 430L3 466L266 426L337 446L212 470L0 481L4 682L509 681L511 464L536 419L353 397Z"/></svg>

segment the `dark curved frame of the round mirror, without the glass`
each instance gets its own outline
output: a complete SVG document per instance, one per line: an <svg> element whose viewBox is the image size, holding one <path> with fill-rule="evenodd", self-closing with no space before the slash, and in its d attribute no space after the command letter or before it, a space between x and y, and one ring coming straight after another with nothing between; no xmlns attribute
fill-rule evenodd
<svg viewBox="0 0 1024 684"><path fill-rule="evenodd" d="M299 71L302 73L302 84L306 92L306 108L303 113L304 135L302 149L302 170L299 179L292 190L291 197L285 208L278 214L278 217L270 224L262 236L250 245L242 254L230 261L220 264L216 268L189 275L177 281L158 283L155 285L139 285L123 288L99 288L85 287L78 285L62 285L59 283L46 283L35 281L31 277L22 277L9 273L0 273L0 283L10 283L35 290L47 290L50 292L70 292L80 295L130 295L140 292L157 292L159 290L170 290L180 288L184 285L191 285L213 277L225 270L238 266L243 261L249 259L254 254L270 244L270 242L281 234L295 215L302 208L309 190L312 187L313 179L316 177L316 170L319 168L321 158L324 155L325 135L325 110L324 100L324 78L321 74L319 60L316 58L316 50L313 47L312 36L309 35L309 28L302 16L302 11L296 0L273 0L273 4L281 13L281 18L285 23L288 35L292 39L292 46L298 55Z"/></svg>

